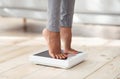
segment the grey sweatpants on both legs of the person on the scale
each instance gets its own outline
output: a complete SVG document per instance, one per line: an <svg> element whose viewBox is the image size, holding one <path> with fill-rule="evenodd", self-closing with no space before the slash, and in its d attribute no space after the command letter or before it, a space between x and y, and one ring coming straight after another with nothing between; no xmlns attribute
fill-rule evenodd
<svg viewBox="0 0 120 79"><path fill-rule="evenodd" d="M72 27L75 0L48 0L47 29L59 32L60 26Z"/></svg>

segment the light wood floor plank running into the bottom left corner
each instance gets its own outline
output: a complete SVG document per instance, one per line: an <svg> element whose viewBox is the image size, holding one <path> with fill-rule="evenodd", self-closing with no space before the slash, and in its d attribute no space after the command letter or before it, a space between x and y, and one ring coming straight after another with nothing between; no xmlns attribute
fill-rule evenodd
<svg viewBox="0 0 120 79"><path fill-rule="evenodd" d="M43 66L32 65L30 63L26 63L24 65L18 66L17 68L13 68L3 74L0 74L0 79L22 79L22 77L31 74L38 69L42 69ZM11 73L12 72L12 73Z"/></svg>

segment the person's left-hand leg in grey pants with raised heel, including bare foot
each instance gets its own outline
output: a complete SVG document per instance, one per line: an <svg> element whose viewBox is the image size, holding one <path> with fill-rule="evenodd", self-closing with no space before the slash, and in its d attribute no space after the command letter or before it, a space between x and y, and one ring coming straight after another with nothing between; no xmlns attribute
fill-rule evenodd
<svg viewBox="0 0 120 79"><path fill-rule="evenodd" d="M61 53L59 20L61 0L48 0L48 26L43 30L49 55L57 59L65 59L67 56Z"/></svg>

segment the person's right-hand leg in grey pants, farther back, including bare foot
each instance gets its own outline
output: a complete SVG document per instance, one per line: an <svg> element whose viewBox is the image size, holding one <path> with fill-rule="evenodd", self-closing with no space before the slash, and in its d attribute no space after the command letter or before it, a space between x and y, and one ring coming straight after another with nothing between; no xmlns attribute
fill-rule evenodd
<svg viewBox="0 0 120 79"><path fill-rule="evenodd" d="M75 0L62 0L60 35L64 43L65 53L76 53L77 51L71 48L72 41L72 21L74 14Z"/></svg>

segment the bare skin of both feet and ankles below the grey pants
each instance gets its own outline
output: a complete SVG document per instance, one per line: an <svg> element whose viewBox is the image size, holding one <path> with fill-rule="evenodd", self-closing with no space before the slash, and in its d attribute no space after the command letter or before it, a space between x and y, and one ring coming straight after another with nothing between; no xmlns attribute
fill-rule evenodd
<svg viewBox="0 0 120 79"><path fill-rule="evenodd" d="M49 55L55 59L66 59L68 54L76 54L77 51L71 48L72 31L71 28L61 27L60 32L43 30L43 36L47 41ZM64 43L64 51L61 52L61 40Z"/></svg>

